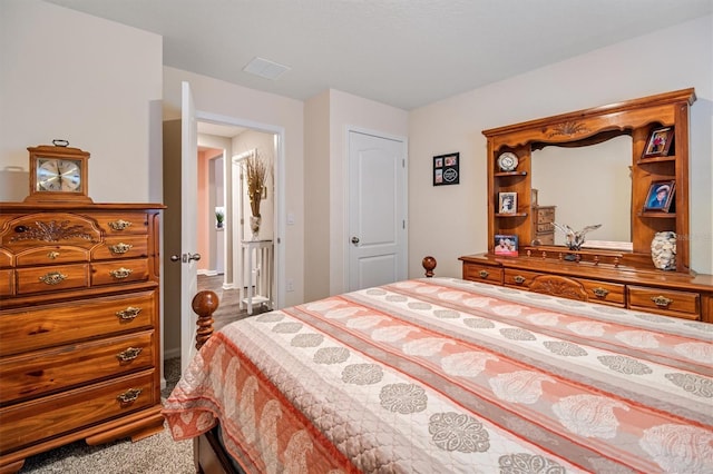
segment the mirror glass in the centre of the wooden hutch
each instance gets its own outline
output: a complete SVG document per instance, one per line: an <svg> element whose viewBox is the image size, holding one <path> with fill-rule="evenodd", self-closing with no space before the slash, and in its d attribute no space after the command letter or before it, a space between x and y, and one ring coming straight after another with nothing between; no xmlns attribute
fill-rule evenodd
<svg viewBox="0 0 713 474"><path fill-rule="evenodd" d="M557 206L555 221L574 230L602 224L584 247L632 248L632 137L583 147L533 150L531 186L539 206ZM555 229L555 245L565 245Z"/></svg>

